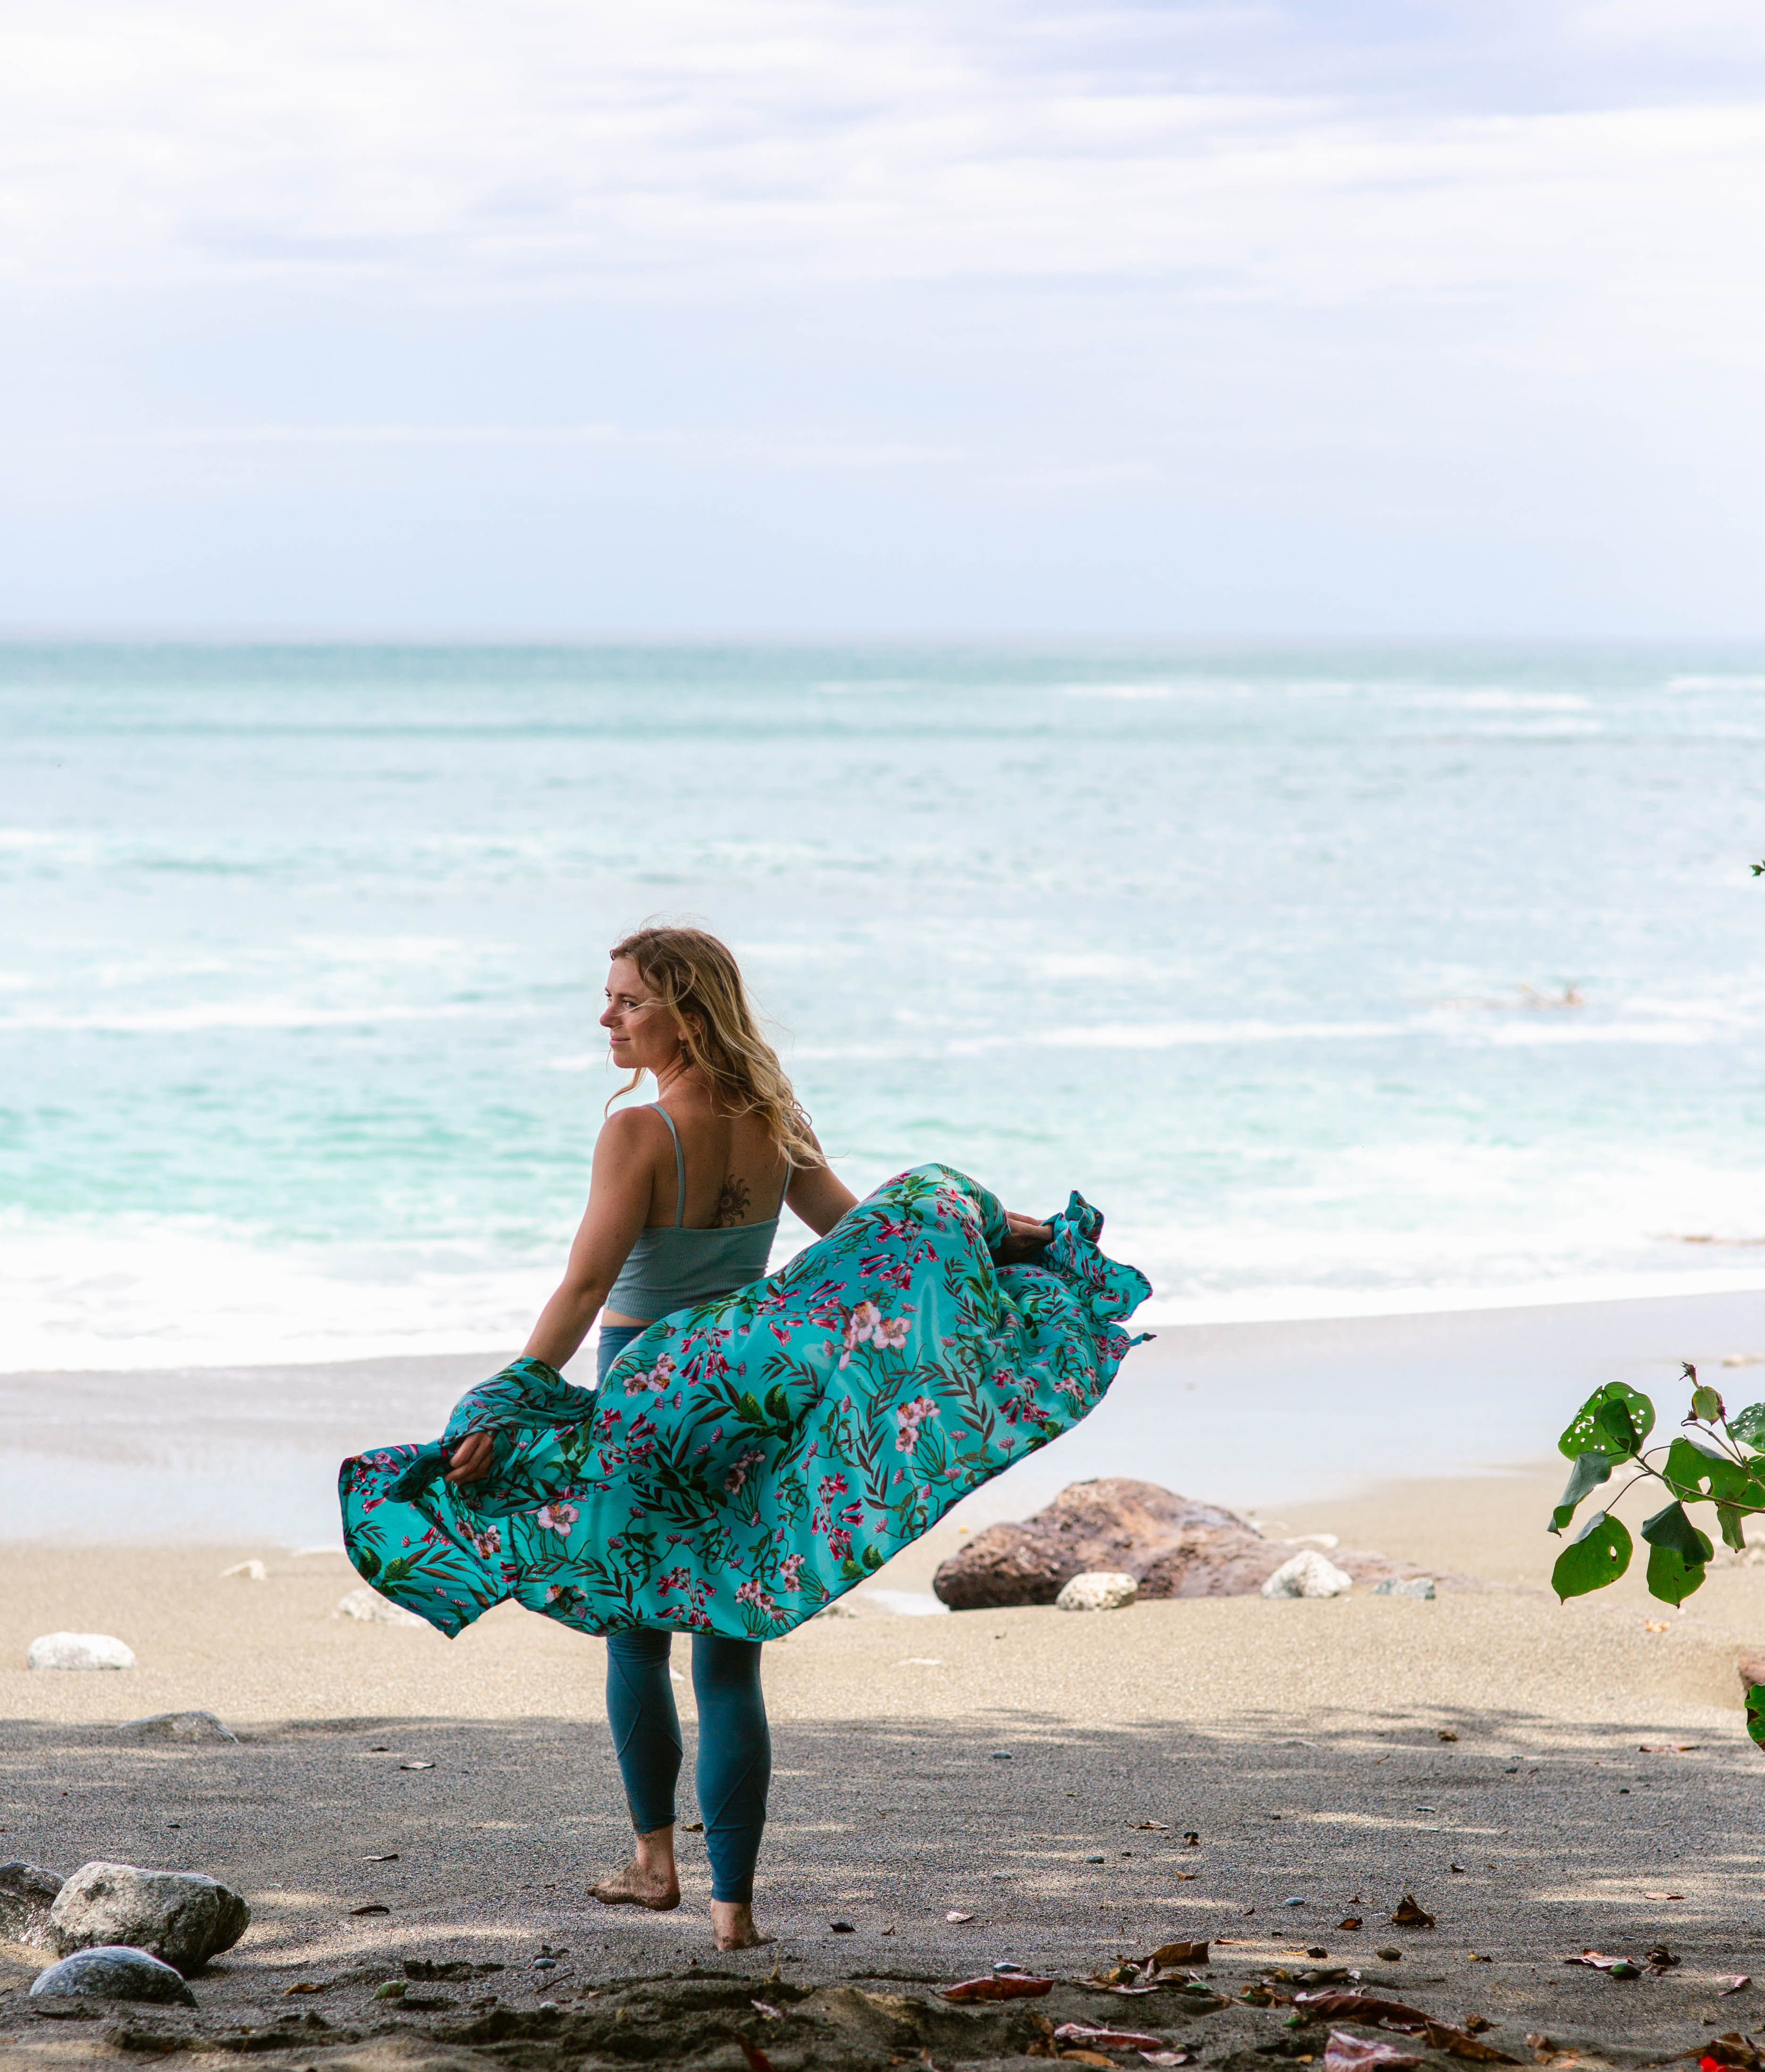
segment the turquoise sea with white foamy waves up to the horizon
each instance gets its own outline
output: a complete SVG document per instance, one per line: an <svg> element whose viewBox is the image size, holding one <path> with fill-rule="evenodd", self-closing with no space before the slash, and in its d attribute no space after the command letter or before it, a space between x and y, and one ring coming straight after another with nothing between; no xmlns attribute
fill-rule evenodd
<svg viewBox="0 0 1765 2072"><path fill-rule="evenodd" d="M1079 1185L1154 1316L1765 1285L1765 649L15 644L0 731L0 1368L520 1339L650 914L853 1187Z"/></svg>

